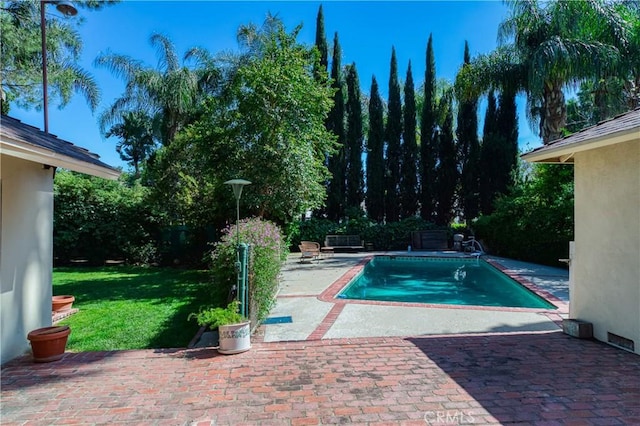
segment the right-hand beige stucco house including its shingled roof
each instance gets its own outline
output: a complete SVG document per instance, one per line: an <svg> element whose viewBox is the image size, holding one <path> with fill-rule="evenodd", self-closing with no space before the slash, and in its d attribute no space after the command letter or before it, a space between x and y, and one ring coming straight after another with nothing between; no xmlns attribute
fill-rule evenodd
<svg viewBox="0 0 640 426"><path fill-rule="evenodd" d="M640 354L640 108L522 158L573 163L569 317L592 323L596 339Z"/></svg>

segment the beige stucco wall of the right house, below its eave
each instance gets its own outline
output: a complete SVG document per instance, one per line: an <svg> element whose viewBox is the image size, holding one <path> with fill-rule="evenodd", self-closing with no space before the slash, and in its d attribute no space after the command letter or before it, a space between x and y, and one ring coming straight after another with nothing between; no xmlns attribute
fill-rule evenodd
<svg viewBox="0 0 640 426"><path fill-rule="evenodd" d="M570 316L640 354L640 138L575 155Z"/></svg>

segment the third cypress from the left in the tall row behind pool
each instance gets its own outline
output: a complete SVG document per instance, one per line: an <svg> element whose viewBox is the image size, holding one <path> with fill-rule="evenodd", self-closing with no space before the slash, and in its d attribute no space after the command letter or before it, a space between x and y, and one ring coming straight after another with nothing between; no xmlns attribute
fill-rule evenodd
<svg viewBox="0 0 640 426"><path fill-rule="evenodd" d="M362 173L362 104L360 103L360 80L355 62L347 67L347 204L349 209L361 208L364 198Z"/></svg>

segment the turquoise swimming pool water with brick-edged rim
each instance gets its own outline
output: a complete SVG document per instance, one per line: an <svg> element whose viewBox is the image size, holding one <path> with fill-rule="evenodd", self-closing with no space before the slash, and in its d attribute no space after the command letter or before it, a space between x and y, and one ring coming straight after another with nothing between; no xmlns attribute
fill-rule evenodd
<svg viewBox="0 0 640 426"><path fill-rule="evenodd" d="M376 256L339 298L556 309L482 259Z"/></svg>

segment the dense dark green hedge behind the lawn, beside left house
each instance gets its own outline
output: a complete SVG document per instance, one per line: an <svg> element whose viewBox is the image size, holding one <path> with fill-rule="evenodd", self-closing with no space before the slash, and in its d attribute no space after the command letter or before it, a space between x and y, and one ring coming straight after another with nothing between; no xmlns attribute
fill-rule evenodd
<svg viewBox="0 0 640 426"><path fill-rule="evenodd" d="M148 189L139 184L57 172L53 232L57 263L73 258L85 258L91 264L103 264L106 259L157 260L159 220L147 195Z"/></svg>

